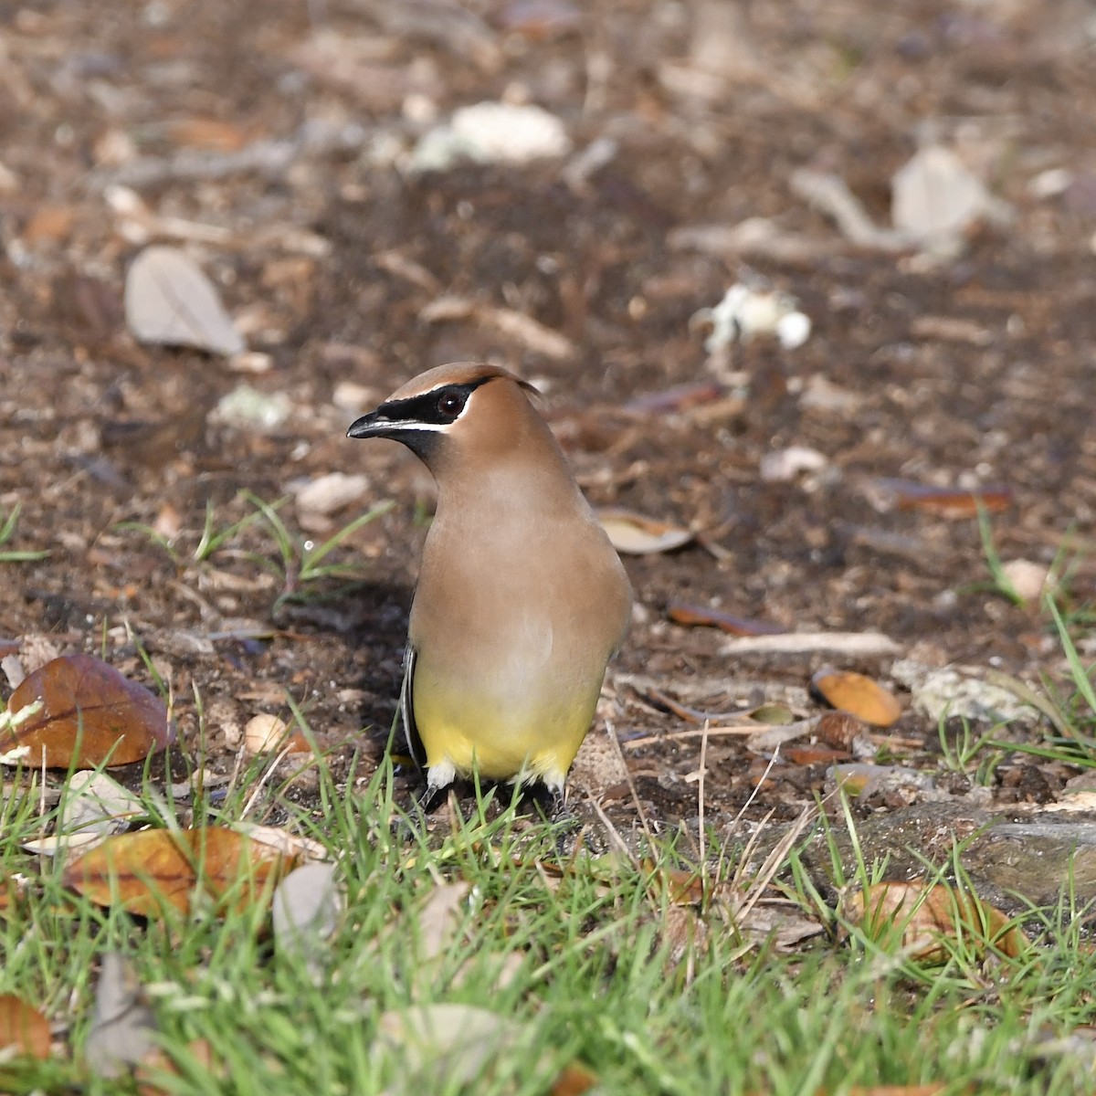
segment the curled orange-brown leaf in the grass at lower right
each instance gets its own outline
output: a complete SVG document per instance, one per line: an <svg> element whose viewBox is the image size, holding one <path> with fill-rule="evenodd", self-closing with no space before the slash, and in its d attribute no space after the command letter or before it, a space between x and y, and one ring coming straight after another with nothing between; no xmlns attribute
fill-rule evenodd
<svg viewBox="0 0 1096 1096"><path fill-rule="evenodd" d="M992 945L1013 959L1027 943L1000 910L945 883L876 883L850 895L843 912L874 938L897 939L912 958L926 962L947 959L941 937L961 936L979 949Z"/></svg>

